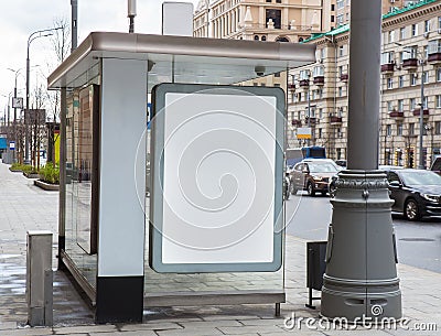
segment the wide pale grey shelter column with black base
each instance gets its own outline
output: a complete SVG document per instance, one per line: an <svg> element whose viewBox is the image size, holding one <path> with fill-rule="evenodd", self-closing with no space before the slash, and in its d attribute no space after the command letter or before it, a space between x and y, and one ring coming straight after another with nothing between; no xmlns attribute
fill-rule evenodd
<svg viewBox="0 0 441 336"><path fill-rule="evenodd" d="M96 321L141 322L147 61L101 59Z"/></svg>

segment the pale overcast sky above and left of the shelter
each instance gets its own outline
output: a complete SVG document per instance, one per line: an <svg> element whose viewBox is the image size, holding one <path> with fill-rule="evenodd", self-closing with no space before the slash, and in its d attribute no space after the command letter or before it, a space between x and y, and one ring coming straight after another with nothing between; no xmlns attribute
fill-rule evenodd
<svg viewBox="0 0 441 336"><path fill-rule="evenodd" d="M192 2L194 7L198 2L183 1ZM94 31L128 32L127 0L77 2L78 45ZM137 0L136 33L161 33L162 2ZM15 74L8 68L20 69L17 76L18 97L24 97L28 37L35 31L54 28L60 20L65 20L71 25L71 0L0 0L0 117L3 117L9 97L13 96ZM30 45L31 93L35 84L46 85L46 77L57 65L50 39L39 37Z"/></svg>

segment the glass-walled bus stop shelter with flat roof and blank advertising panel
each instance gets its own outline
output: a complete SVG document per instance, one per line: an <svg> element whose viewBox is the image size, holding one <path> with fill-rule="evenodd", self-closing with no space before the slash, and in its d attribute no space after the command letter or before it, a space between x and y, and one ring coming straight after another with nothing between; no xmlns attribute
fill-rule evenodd
<svg viewBox="0 0 441 336"><path fill-rule="evenodd" d="M313 45L95 32L53 72L49 88L61 90L62 101L60 265L73 274L95 305L98 323L140 322L146 307L158 306L261 303L280 308L286 300L283 165L280 164L286 138L286 98L280 89L249 87L245 83L314 61ZM189 95L195 98L185 100ZM181 100L182 97L185 99ZM225 104L239 106L240 118L224 111ZM200 134L194 126L176 128L181 132L179 141L174 148L168 148L164 134L175 134L168 127L186 116L187 119L180 120L181 127L194 117L193 111L206 116L201 112L205 105L207 109L223 112L200 119ZM276 111L275 116L278 111L279 116L266 119L266 111ZM246 134L248 123L241 120L250 119L255 126ZM259 138L271 128L267 122L272 124L275 134L269 132ZM213 129L213 123L217 129ZM259 132L259 128L266 131ZM270 153L270 197L263 200L271 203L267 221L272 227L270 232L256 229L257 234L252 230L239 239L240 252L226 243L232 248L228 254L216 254L222 249L203 246L213 241L213 237L186 235L173 226L174 217L169 218L172 212L166 213L165 206L181 206L184 198L173 197L190 178L173 185L168 182L171 181L168 174L173 175L174 171L164 166L175 164L181 169L184 160L192 164L193 156L179 154L189 132L195 134L194 139L217 134L215 140L204 141L205 147L196 148L196 152L205 150L211 158L218 152L211 145L219 142L227 161L239 158L249 163L240 170L255 174L254 193L260 191L261 165L252 161L255 158L248 160L240 153L240 145L246 148L247 141L259 138L258 147ZM168 149L160 148L159 142ZM227 147L232 149L225 150ZM178 151L175 155L170 154L172 149ZM185 152L187 148L181 150ZM180 160L174 160L178 156ZM216 174L222 175L222 191L228 192L229 185L237 187L241 175L224 181L225 160L218 162L213 161L211 170L220 166ZM195 172L204 171L203 163L193 167ZM211 178L209 174L207 177L201 173L201 176L204 181ZM205 198L213 200L216 192L214 195ZM240 193L232 197L239 199ZM182 209L186 212L185 207ZM198 213L195 214L197 217ZM228 236L224 227L216 228ZM234 231L235 226L229 229ZM163 235L165 230L178 239L186 235L185 239L201 247L186 249L187 246L174 241L173 237L168 239ZM263 238L269 253L252 257L260 252L259 241L252 241L259 232L261 237L269 236ZM219 235L218 239L224 236ZM204 252L207 250L211 252Z"/></svg>

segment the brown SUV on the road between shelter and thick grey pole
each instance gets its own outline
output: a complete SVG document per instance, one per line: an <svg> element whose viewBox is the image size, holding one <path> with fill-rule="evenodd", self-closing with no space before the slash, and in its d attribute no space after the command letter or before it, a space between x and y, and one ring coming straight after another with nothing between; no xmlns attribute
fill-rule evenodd
<svg viewBox="0 0 441 336"><path fill-rule="evenodd" d="M338 172L334 161L330 159L308 159L299 162L291 171L291 194L306 191L308 195L315 193L325 195L330 178Z"/></svg>

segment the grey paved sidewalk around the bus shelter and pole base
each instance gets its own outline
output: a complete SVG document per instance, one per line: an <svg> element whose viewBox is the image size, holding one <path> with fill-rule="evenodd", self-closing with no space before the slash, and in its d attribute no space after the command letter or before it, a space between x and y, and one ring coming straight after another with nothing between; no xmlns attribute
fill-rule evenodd
<svg viewBox="0 0 441 336"><path fill-rule="evenodd" d="M21 173L11 173L0 163L0 336L14 335L441 335L441 274L399 264L405 323L397 330L332 330L319 325L316 311L308 310L305 288L305 241L287 238L287 303L282 317L273 317L272 305L170 307L144 312L142 324L94 325L93 312L73 289L66 274L55 272L54 326L26 327L25 248L26 231L54 232L57 252L58 194L33 185ZM441 252L440 252L441 253ZM56 259L54 258L54 269ZM319 293L315 293L319 294ZM287 328L284 317L303 317L301 328ZM312 319L305 319L312 318ZM291 321L288 321L291 322ZM310 327L305 323L310 324ZM438 330L416 330L433 328ZM289 325L288 325L289 327ZM413 328L415 330L407 330Z"/></svg>

